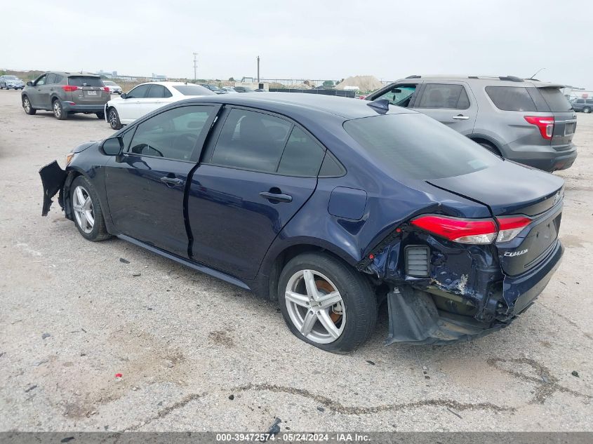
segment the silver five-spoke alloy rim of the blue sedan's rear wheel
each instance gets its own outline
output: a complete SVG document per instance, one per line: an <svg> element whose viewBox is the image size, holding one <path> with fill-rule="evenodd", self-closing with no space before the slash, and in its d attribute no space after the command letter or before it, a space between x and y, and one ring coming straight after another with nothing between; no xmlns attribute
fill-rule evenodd
<svg viewBox="0 0 593 444"><path fill-rule="evenodd" d="M319 271L297 271L286 284L288 316L312 342L329 344L342 335L346 310L335 285Z"/></svg>

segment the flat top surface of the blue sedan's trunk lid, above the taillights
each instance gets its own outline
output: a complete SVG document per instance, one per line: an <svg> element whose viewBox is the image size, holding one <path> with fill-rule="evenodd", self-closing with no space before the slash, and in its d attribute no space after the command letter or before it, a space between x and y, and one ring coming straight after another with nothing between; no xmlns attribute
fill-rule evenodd
<svg viewBox="0 0 593 444"><path fill-rule="evenodd" d="M536 215L562 198L564 180L512 161L465 175L429 179L434 187L484 203L493 215Z"/></svg>

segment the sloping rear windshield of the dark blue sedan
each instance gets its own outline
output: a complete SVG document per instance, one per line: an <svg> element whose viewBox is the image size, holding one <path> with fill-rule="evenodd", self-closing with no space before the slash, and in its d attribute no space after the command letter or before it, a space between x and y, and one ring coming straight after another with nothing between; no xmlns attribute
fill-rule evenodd
<svg viewBox="0 0 593 444"><path fill-rule="evenodd" d="M441 179L500 162L479 144L425 114L387 114L349 120L344 129L387 170L412 179Z"/></svg>

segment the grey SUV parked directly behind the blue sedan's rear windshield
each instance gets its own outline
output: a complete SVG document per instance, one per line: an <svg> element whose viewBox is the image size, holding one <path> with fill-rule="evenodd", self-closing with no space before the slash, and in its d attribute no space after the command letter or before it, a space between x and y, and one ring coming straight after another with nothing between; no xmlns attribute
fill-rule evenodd
<svg viewBox="0 0 593 444"><path fill-rule="evenodd" d="M576 159L562 85L514 76L409 76L371 93L437 119L505 159L554 171Z"/></svg>

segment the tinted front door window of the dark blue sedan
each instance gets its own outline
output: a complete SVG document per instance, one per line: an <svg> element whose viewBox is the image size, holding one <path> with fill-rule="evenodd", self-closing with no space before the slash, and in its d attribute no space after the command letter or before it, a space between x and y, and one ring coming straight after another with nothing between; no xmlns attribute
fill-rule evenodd
<svg viewBox="0 0 593 444"><path fill-rule="evenodd" d="M195 144L214 107L190 106L170 109L138 125L129 152L141 156L179 161L192 159Z"/></svg>

